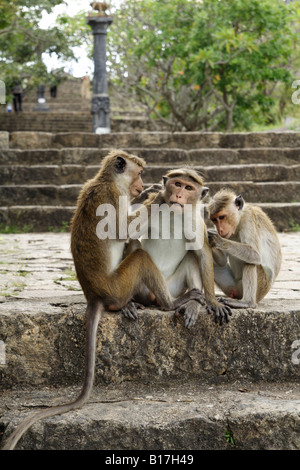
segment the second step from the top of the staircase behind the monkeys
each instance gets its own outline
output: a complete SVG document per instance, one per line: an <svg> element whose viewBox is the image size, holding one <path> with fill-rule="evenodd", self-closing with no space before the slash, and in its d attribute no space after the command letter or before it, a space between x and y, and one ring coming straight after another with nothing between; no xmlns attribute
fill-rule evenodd
<svg viewBox="0 0 300 470"><path fill-rule="evenodd" d="M33 143L33 147L35 144ZM139 155L149 165L238 166L300 164L300 148L249 148L249 149L167 149L131 148L123 150ZM0 165L99 165L111 148L69 147L60 149L1 149Z"/></svg>

